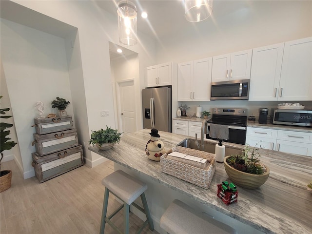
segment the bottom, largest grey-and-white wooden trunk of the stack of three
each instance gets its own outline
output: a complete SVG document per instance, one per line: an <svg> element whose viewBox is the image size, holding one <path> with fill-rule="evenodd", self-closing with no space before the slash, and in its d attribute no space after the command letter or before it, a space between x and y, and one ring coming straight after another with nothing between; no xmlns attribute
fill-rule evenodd
<svg viewBox="0 0 312 234"><path fill-rule="evenodd" d="M83 165L81 145L46 156L32 153L32 158L40 183Z"/></svg>

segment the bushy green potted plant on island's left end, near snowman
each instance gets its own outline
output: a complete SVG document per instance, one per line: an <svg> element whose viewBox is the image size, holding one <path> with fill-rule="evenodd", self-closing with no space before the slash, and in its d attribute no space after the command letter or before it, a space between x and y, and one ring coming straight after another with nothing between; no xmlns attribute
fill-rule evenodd
<svg viewBox="0 0 312 234"><path fill-rule="evenodd" d="M91 131L91 139L89 144L96 145L100 150L111 149L115 143L120 141L120 135L118 129L112 129L106 125L106 129L99 129L97 131Z"/></svg>

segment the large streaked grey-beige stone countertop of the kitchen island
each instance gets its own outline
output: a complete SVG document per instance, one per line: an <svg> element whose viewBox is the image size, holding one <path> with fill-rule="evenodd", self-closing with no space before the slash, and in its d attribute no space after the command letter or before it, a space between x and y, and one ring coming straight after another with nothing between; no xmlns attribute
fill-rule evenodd
<svg viewBox="0 0 312 234"><path fill-rule="evenodd" d="M110 150L101 151L92 146L89 150L264 233L311 233L312 193L306 185L312 180L312 157L260 150L261 161L271 170L269 179L255 190L237 187L238 202L227 206L216 195L217 184L229 180L223 164L216 163L215 175L208 190L162 173L160 163L149 160L145 154L149 132L149 129L143 129L124 134L119 144ZM190 138L161 131L159 134L166 149ZM241 147L226 142L224 145Z"/></svg>

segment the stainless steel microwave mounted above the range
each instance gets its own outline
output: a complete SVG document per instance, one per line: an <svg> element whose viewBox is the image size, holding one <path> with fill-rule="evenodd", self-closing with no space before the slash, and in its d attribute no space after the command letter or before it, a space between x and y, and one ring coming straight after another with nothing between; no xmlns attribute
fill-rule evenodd
<svg viewBox="0 0 312 234"><path fill-rule="evenodd" d="M212 82L210 100L248 100L249 87L249 79Z"/></svg>

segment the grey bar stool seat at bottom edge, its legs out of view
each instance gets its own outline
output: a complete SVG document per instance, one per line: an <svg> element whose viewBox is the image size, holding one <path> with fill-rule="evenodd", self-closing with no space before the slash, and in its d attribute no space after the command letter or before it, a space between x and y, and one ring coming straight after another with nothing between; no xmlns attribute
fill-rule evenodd
<svg viewBox="0 0 312 234"><path fill-rule="evenodd" d="M177 199L161 216L160 227L170 234L236 234L232 227L196 211Z"/></svg>

